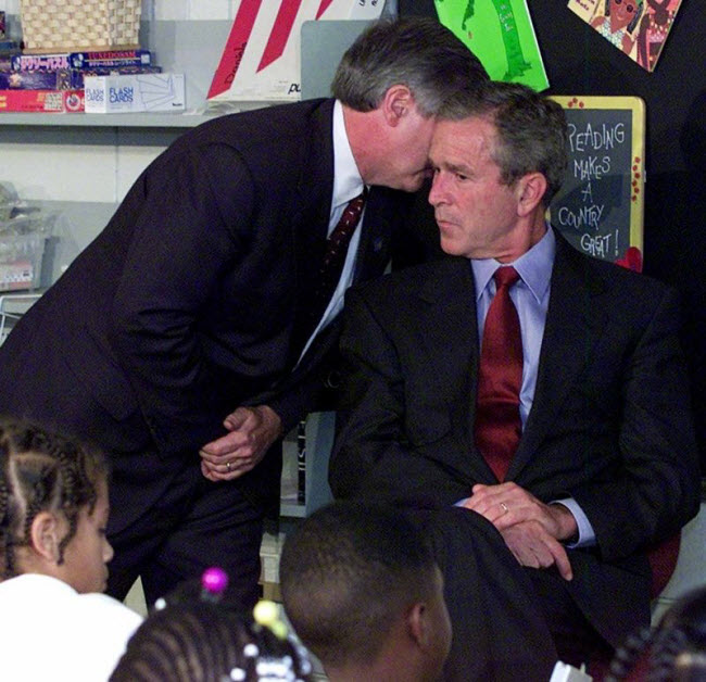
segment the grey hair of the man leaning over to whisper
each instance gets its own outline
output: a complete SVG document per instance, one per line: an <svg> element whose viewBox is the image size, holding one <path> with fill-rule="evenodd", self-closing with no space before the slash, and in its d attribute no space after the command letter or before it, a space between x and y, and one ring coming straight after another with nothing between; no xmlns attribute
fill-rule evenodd
<svg viewBox="0 0 706 682"><path fill-rule="evenodd" d="M381 18L343 54L331 92L346 106L369 112L392 86L406 85L419 112L432 116L453 92L487 79L478 58L438 20Z"/></svg>

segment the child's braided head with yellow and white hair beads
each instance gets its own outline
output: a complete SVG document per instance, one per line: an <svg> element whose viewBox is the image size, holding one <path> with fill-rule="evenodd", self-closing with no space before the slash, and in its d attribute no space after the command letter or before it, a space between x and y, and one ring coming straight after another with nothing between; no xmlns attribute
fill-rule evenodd
<svg viewBox="0 0 706 682"><path fill-rule="evenodd" d="M128 642L111 682L311 679L308 655L288 635L275 604L259 603L255 615L267 618L255 619L218 595L194 595L190 581L157 599Z"/></svg>

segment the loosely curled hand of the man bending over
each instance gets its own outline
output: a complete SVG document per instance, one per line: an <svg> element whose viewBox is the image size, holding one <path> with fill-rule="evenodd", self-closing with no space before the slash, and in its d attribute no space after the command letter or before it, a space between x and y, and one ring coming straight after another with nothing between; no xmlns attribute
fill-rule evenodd
<svg viewBox="0 0 706 682"><path fill-rule="evenodd" d="M199 451L201 472L210 481L229 481L247 473L281 435L281 419L267 405L238 407L223 425L229 433Z"/></svg>

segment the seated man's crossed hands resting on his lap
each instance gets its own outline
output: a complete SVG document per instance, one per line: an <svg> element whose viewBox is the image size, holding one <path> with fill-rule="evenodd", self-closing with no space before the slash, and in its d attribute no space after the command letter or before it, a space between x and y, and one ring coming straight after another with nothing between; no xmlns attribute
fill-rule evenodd
<svg viewBox="0 0 706 682"><path fill-rule="evenodd" d="M516 483L477 484L463 505L486 517L500 531L521 566L556 566L565 580L573 572L560 543L577 530L573 515L562 504L544 504Z"/></svg>

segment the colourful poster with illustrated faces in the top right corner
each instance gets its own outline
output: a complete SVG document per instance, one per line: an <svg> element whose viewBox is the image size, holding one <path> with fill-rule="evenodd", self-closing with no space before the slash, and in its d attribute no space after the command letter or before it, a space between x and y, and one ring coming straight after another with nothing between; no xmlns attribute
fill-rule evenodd
<svg viewBox="0 0 706 682"><path fill-rule="evenodd" d="M569 0L568 8L648 72L657 66L681 0Z"/></svg>

